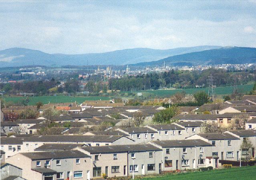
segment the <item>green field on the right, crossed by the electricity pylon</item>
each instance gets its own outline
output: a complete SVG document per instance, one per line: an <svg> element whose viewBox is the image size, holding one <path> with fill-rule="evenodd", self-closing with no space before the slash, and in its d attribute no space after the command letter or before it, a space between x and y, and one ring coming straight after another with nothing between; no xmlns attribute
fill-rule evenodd
<svg viewBox="0 0 256 180"><path fill-rule="evenodd" d="M246 93L252 90L253 84L238 85L237 88L240 89L242 92ZM223 86L223 87L217 87L214 90L216 95L225 95L225 94L232 94L233 89L234 89L234 86ZM151 93L160 97L167 97L167 96L172 96L176 92L185 91L186 94L194 94L195 92L202 91L202 90L208 93L208 88L175 89L175 90L145 90L145 91L143 90L139 92L142 92L142 94Z"/></svg>

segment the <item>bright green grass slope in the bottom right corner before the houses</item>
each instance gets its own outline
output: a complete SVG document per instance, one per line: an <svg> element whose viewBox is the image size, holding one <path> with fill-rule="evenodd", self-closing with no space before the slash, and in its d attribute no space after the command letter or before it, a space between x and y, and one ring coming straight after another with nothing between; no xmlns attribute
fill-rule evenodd
<svg viewBox="0 0 256 180"><path fill-rule="evenodd" d="M256 166L242 168L210 170L205 172L188 172L166 176L143 178L143 180L255 180Z"/></svg>

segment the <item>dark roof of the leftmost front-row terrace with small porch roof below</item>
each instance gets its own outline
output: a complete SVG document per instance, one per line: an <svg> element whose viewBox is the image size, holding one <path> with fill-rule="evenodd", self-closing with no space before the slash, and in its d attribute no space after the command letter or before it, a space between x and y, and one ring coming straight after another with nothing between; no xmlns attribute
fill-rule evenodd
<svg viewBox="0 0 256 180"><path fill-rule="evenodd" d="M87 154L78 150L67 151L51 151L51 152L23 152L20 153L31 160L44 160L44 159L69 159L69 158L88 158Z"/></svg>

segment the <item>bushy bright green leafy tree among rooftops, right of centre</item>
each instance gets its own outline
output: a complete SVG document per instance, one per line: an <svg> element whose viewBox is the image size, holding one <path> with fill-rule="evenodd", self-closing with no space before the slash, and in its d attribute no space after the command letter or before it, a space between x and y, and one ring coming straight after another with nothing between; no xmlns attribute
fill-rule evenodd
<svg viewBox="0 0 256 180"><path fill-rule="evenodd" d="M158 124L171 124L171 118L179 114L179 108L177 106L171 106L156 113L153 117L153 122Z"/></svg>

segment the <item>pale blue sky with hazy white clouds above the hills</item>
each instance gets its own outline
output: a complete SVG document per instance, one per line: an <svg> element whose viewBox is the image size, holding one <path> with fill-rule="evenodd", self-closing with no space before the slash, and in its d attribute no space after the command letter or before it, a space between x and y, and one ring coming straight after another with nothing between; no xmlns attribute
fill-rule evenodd
<svg viewBox="0 0 256 180"><path fill-rule="evenodd" d="M256 0L1 1L0 50L256 47Z"/></svg>

